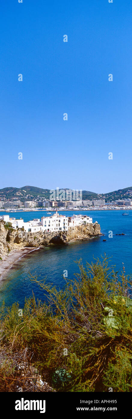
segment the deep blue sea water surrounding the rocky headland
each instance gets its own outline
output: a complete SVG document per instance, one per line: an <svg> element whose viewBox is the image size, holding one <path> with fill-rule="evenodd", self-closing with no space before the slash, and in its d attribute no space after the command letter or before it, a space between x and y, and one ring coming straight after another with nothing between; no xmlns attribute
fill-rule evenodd
<svg viewBox="0 0 132 419"><path fill-rule="evenodd" d="M81 211L80 211L81 212ZM71 243L69 246L48 247L43 250L36 250L21 258L7 273L7 277L0 281L0 304L5 300L6 305L15 301L23 307L25 297L32 295L44 300L43 291L34 285L29 278L29 272L37 275L47 282L52 282L56 287L63 287L65 279L63 271L68 271L68 278L72 279L76 272L79 272L76 261L80 258L83 264L86 261L91 263L94 258L101 258L104 253L111 259L111 264L116 265L116 270L121 272L122 262L126 274L132 274L132 210L129 215L122 216L122 210L115 211L83 211L98 221L101 232L105 237L93 238L90 241ZM61 213L61 211L59 212ZM63 215L78 214L77 211L65 211ZM5 214L0 212L0 215ZM8 214L8 212L6 212ZM46 212L11 212L10 217L20 218L24 221L33 218L41 218ZM47 214L46 214L47 215ZM113 238L109 238L109 231L113 232ZM117 233L125 235L118 236ZM103 239L106 239L103 242Z"/></svg>

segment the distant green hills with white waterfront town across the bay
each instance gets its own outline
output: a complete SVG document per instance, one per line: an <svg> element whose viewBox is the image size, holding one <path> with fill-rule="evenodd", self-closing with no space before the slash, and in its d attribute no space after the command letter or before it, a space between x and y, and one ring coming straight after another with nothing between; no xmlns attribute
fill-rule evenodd
<svg viewBox="0 0 132 419"><path fill-rule="evenodd" d="M0 212L14 211L82 211L96 209L131 209L132 188L108 194L75 189L42 189L35 186L0 189Z"/></svg>

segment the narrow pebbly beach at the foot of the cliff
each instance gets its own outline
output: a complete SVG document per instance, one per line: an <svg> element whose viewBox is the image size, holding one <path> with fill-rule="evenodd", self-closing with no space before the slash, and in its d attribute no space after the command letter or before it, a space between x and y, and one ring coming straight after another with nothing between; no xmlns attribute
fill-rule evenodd
<svg viewBox="0 0 132 419"><path fill-rule="evenodd" d="M25 247L19 250L12 250L7 256L4 256L3 261L0 261L0 279L6 276L9 269L18 261L19 258L23 257L27 253L33 250L37 250L34 247Z"/></svg>

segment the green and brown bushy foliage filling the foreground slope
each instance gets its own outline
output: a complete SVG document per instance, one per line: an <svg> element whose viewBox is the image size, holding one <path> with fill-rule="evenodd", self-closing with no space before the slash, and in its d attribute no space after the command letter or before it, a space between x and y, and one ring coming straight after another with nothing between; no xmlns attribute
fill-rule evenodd
<svg viewBox="0 0 132 419"><path fill-rule="evenodd" d="M132 391L132 279L95 260L63 290L38 281L46 303L0 310L0 391ZM114 319L114 320L113 320ZM47 390L48 391L48 390Z"/></svg>

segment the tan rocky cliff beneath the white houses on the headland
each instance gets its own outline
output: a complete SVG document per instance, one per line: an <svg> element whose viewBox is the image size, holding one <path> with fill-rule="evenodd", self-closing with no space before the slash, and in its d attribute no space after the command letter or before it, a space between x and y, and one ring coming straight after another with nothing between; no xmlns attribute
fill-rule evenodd
<svg viewBox="0 0 132 419"><path fill-rule="evenodd" d="M72 241L89 240L101 235L100 225L87 224L69 228L68 231L54 233L25 233L21 229L6 230L4 223L0 222L0 257L6 256L11 250L24 247L68 245Z"/></svg>

